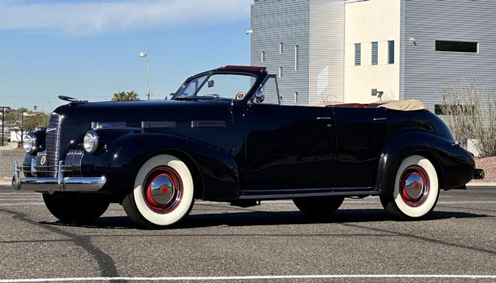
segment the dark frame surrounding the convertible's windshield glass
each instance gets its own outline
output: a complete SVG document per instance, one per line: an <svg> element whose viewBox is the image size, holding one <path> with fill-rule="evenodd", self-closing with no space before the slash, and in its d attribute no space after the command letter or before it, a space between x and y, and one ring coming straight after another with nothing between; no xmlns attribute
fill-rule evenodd
<svg viewBox="0 0 496 283"><path fill-rule="evenodd" d="M243 99L234 99L234 98L226 98L226 97L219 97L219 98L216 98L216 97L211 97L211 96L196 96L196 94L201 90L201 88L205 85L205 83L208 81L208 79L212 76L212 75L215 75L215 74L235 74L235 75L246 75L246 76L251 76L255 79L255 81L253 82L253 84L251 85L251 87L248 89L248 91L246 92L247 94L245 95L245 97ZM198 99L198 98L201 98L201 99L206 99L206 100L229 100L229 101L233 101L233 102L238 102L238 101L246 101L248 97L251 97L252 94L254 93L254 91L256 89L258 89L258 86L259 85L259 81L261 79L264 79L265 76L267 75L267 73L264 73L264 72L260 72L260 74L263 74L262 76L259 75L259 73L255 73L255 72L249 72L249 71L216 71L216 70L213 70L213 71L205 71L205 72L201 72L201 73L198 73L198 74L195 74L189 78L186 79L186 81L179 87L179 89L176 91L176 93L173 95L173 97L171 98L171 100L177 100L178 98L181 99L181 98L185 98L185 97L189 97L189 98L194 98L194 99ZM196 89L196 91L191 94L190 96L183 96L183 97L180 97L179 96L179 93L181 92L181 90L192 80L198 78L198 77L202 77L204 75L207 75L206 79L203 81L203 83L198 87L198 89Z"/></svg>

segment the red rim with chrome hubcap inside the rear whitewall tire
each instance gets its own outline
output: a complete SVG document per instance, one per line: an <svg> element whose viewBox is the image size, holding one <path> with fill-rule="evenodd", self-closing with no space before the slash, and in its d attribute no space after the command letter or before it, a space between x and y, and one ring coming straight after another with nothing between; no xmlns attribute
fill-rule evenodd
<svg viewBox="0 0 496 283"><path fill-rule="evenodd" d="M424 168L412 165L401 174L399 186L403 202L410 207L419 207L429 196L431 181Z"/></svg>

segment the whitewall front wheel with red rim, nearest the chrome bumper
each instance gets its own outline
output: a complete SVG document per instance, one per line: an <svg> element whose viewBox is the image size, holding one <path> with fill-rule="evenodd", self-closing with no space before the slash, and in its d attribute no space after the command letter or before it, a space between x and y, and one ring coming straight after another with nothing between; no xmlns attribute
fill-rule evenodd
<svg viewBox="0 0 496 283"><path fill-rule="evenodd" d="M133 221L160 228L186 218L193 203L193 178L188 167L181 159L162 154L141 166L123 207Z"/></svg>

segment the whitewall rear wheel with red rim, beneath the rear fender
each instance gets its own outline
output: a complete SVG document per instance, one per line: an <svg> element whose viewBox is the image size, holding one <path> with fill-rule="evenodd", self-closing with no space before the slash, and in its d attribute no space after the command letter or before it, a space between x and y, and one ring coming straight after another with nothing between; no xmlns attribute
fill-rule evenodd
<svg viewBox="0 0 496 283"><path fill-rule="evenodd" d="M412 155L401 162L392 194L381 195L389 214L403 220L418 220L434 210L439 198L439 181L429 159Z"/></svg>

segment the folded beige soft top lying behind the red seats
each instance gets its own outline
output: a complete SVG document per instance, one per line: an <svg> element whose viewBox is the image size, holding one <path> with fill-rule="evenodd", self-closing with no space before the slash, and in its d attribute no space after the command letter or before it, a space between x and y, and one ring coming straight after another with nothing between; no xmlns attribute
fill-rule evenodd
<svg viewBox="0 0 496 283"><path fill-rule="evenodd" d="M401 111L415 111L415 110L427 110L427 107L419 100L408 99L408 100L390 100L390 101L378 101L370 104L361 103L343 103L338 101L330 101L323 103L311 104L310 106L315 107L355 107L355 108L387 108L392 110Z"/></svg>

